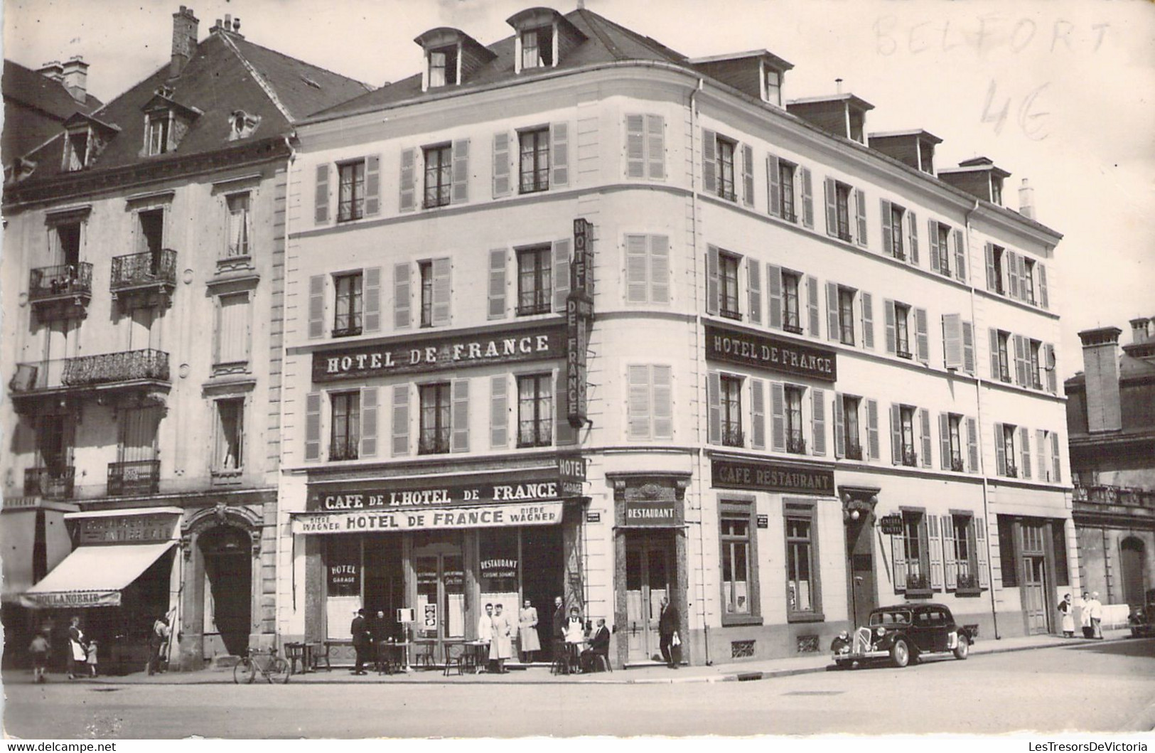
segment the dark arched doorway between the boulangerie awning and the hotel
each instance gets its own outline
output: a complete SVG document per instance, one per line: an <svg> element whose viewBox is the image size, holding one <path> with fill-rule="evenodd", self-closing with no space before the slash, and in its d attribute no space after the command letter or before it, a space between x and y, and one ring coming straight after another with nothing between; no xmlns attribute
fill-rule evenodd
<svg viewBox="0 0 1155 753"><path fill-rule="evenodd" d="M219 640L233 656L248 649L253 617L251 542L247 531L232 525L216 525L198 537L204 558L204 640Z"/></svg>

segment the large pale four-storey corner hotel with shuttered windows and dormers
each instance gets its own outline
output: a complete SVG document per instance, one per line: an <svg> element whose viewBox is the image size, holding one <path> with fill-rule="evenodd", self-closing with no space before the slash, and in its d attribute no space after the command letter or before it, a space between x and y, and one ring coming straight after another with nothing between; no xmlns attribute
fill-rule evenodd
<svg viewBox="0 0 1155 753"><path fill-rule="evenodd" d="M549 651L556 596L619 664L660 655L663 598L693 663L903 599L1055 631L1060 236L1009 173L784 98L765 50L508 23L430 30L419 74L299 127L282 640L365 606L440 662L528 601Z"/></svg>

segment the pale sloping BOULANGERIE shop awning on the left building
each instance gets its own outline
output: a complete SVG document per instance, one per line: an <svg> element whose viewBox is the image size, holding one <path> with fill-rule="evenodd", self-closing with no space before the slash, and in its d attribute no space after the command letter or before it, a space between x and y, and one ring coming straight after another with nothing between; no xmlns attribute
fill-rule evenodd
<svg viewBox="0 0 1155 753"><path fill-rule="evenodd" d="M20 601L24 606L119 606L120 591L174 544L81 546Z"/></svg>

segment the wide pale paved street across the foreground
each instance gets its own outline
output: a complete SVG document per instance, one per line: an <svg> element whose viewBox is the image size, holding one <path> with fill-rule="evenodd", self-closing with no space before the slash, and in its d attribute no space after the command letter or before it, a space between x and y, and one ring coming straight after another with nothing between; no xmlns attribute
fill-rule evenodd
<svg viewBox="0 0 1155 753"><path fill-rule="evenodd" d="M53 681L8 686L5 726L24 738L1135 731L1155 729L1153 678L1155 640L1126 640L752 683Z"/></svg>

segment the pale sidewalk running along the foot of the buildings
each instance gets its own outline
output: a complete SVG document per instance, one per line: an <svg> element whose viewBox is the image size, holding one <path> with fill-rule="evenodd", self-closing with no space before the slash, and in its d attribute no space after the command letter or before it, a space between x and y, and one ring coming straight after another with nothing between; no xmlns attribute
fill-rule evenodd
<svg viewBox="0 0 1155 753"><path fill-rule="evenodd" d="M1055 635L1030 635L1023 638L1009 638L1003 640L979 639L970 647L971 656L984 654L1003 654L1007 651L1029 651L1044 648L1072 648L1075 646L1097 644L1111 641L1119 641L1131 635L1128 629L1104 631L1103 641L1093 641L1081 638L1065 639ZM331 672L307 672L295 674L289 680L293 685L333 685L333 684L374 684L394 683L409 685L472 685L472 684L514 684L514 685L553 685L569 683L575 685L644 685L644 684L673 684L673 683L732 683L746 680L765 680L775 677L789 677L791 674L806 674L810 672L825 672L833 669L830 655L828 653L813 654L810 656L798 656L791 658L765 659L760 662L740 662L728 664L715 664L713 666L683 666L678 670L670 670L663 665L633 668L628 670L616 670L613 672L598 672L595 674L572 674L553 676L545 666L531 666L524 670L514 670L508 674L452 674L445 677L441 670L430 670L420 672L409 672L404 674L378 674L370 672L365 676L353 676L348 669L334 669ZM77 679L69 681L62 674L50 674L50 683L68 683L76 685L217 685L221 683L232 683L232 669L202 670L200 672L166 672L164 674L148 676L144 672L127 674L124 677L98 677L95 679ZM5 685L24 685L31 683L31 671L12 670L3 672Z"/></svg>

